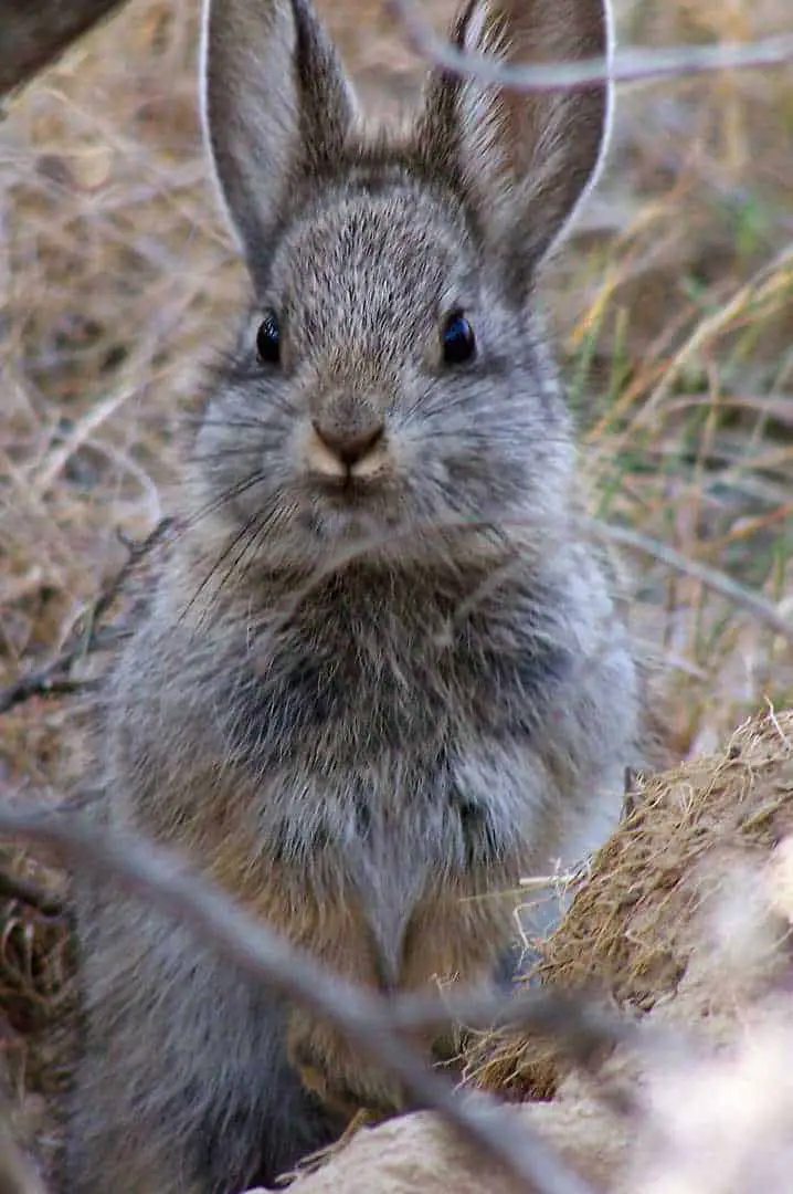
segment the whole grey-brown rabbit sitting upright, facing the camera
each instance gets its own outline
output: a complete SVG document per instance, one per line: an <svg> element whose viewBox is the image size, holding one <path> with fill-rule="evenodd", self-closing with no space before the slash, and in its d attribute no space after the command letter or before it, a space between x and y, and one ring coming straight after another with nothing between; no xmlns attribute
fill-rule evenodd
<svg viewBox="0 0 793 1194"><path fill-rule="evenodd" d="M471 0L451 42L586 60L611 18ZM379 128L309 0L205 7L205 140L252 300L107 682L94 816L385 995L490 981L519 879L600 845L648 755L535 298L611 105L606 82L435 67ZM72 1194L271 1184L354 1108L409 1106L163 911L86 879L76 904Z"/></svg>

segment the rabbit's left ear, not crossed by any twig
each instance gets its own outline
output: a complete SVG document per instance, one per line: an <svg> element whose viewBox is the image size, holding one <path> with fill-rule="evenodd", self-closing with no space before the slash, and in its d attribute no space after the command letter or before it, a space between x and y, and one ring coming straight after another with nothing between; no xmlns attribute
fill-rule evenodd
<svg viewBox="0 0 793 1194"><path fill-rule="evenodd" d="M337 159L353 111L308 0L205 0L204 134L249 261L261 257L301 177Z"/></svg>

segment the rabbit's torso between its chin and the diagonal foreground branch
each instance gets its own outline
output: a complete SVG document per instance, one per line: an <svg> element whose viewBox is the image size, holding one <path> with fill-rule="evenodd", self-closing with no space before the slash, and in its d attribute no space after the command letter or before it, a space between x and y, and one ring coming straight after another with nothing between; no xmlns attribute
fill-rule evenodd
<svg viewBox="0 0 793 1194"><path fill-rule="evenodd" d="M504 909L461 897L514 898L521 875L602 841L636 757L631 660L575 564L588 626L565 626L562 578L540 597L518 574L452 630L476 578L365 566L312 593L275 650L266 610L198 640L161 610L119 675L117 810L351 977L392 990L487 971Z"/></svg>

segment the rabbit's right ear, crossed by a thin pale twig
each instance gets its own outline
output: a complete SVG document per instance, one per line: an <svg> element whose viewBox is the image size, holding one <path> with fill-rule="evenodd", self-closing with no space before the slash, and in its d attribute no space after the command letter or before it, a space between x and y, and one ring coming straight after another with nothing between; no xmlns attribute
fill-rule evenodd
<svg viewBox="0 0 793 1194"><path fill-rule="evenodd" d="M452 39L510 67L609 56L608 0L472 0ZM438 72L421 136L454 170L490 247L531 269L596 180L611 103L608 84L519 92Z"/></svg>

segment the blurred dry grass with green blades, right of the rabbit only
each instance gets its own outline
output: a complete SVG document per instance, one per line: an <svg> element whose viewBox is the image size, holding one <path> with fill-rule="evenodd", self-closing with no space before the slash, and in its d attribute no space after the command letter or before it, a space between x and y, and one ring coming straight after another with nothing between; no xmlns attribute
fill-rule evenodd
<svg viewBox="0 0 793 1194"><path fill-rule="evenodd" d="M652 44L791 27L783 4L633 10L626 36ZM600 512L788 616L792 133L791 68L624 92L597 235L557 284ZM681 751L789 703L789 644L646 564L639 624L675 669Z"/></svg>

